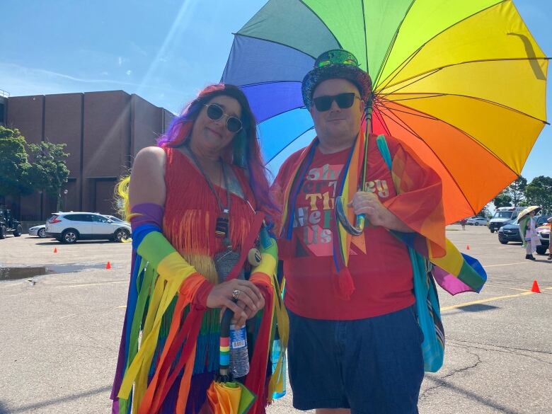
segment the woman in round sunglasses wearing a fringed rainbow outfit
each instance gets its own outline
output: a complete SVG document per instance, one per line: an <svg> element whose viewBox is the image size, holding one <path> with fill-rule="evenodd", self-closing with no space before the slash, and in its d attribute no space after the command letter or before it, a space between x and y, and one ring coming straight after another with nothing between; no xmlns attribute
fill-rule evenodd
<svg viewBox="0 0 552 414"><path fill-rule="evenodd" d="M247 321L251 364L241 381L257 396L248 412L264 413L282 381L267 376L272 321L285 345L287 315L275 299L277 250L263 225L275 209L246 96L236 86L208 86L158 145L139 151L130 184L119 185L133 250L113 413L209 413L226 308L236 326ZM237 252L243 263L255 246L258 266L219 275L217 255Z"/></svg>

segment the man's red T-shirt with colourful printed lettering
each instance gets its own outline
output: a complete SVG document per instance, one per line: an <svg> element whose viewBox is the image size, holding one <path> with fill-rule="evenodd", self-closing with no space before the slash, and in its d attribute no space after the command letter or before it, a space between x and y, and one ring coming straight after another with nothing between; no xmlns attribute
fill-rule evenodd
<svg viewBox="0 0 552 414"><path fill-rule="evenodd" d="M393 143L394 140L389 140L391 151ZM349 270L355 292L350 300L335 294L334 200L349 151L322 154L317 148L295 200L292 241L287 243L289 257L284 257L284 300L290 311L307 318L369 318L414 303L408 249L380 226L367 226L361 236L352 238ZM298 155L292 155L288 161ZM284 163L277 182L287 183L292 179L290 164ZM391 171L379 151L371 151L368 166L364 188L375 192L381 202L395 197Z"/></svg>

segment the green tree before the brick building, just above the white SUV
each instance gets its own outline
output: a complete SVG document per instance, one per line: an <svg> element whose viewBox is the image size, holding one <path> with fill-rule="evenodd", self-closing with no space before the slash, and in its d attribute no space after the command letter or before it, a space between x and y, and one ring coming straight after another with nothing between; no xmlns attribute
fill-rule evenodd
<svg viewBox="0 0 552 414"><path fill-rule="evenodd" d="M29 154L33 163L29 168L30 182L35 190L42 190L47 195L57 200L57 211L60 209L62 186L67 183L69 168L67 168L67 157L64 152L65 144L52 144L51 142L40 142L40 144L28 144Z"/></svg>

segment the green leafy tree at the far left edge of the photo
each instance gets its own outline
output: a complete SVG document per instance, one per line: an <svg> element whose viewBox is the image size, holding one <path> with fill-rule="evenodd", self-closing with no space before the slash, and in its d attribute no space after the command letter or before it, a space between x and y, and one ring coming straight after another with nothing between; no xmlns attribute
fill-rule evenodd
<svg viewBox="0 0 552 414"><path fill-rule="evenodd" d="M19 130L0 125L0 195L28 195L33 191L28 180L30 164L25 144Z"/></svg>

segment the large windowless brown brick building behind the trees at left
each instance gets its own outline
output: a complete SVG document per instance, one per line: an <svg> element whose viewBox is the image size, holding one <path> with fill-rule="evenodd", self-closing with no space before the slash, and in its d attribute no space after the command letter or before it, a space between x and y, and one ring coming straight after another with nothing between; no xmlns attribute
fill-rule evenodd
<svg viewBox="0 0 552 414"><path fill-rule="evenodd" d="M104 214L115 212L115 183L134 156L155 144L173 119L168 110L125 91L9 96L2 109L0 122L18 128L27 142L67 144L70 173L62 209ZM56 199L40 192L4 202L28 221L45 220L56 208Z"/></svg>

